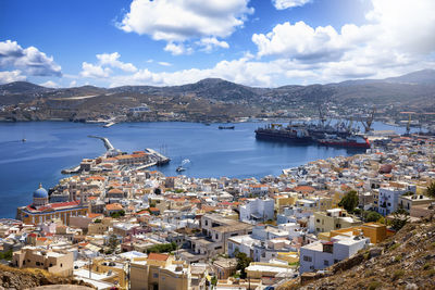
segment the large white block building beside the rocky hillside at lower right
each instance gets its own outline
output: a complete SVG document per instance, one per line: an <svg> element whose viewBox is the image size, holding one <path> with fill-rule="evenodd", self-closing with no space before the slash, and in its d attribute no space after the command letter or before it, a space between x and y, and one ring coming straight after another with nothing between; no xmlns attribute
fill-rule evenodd
<svg viewBox="0 0 435 290"><path fill-rule="evenodd" d="M369 238L336 236L331 241L318 241L300 248L300 274L324 269L355 255L370 243Z"/></svg>

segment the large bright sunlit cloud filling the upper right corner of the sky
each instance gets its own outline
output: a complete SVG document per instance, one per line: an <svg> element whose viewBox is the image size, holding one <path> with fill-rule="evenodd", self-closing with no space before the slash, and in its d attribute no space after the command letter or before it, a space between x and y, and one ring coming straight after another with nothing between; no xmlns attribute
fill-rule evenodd
<svg viewBox="0 0 435 290"><path fill-rule="evenodd" d="M372 4L363 25L346 24L336 30L286 22L268 34L254 34L257 56L308 64L321 79L384 77L431 65L435 1L372 0Z"/></svg>

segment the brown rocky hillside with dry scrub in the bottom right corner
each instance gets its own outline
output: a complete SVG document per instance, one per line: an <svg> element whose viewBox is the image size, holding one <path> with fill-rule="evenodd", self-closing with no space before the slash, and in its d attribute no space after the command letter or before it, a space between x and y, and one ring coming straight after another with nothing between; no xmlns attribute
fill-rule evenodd
<svg viewBox="0 0 435 290"><path fill-rule="evenodd" d="M284 289L435 289L435 217L405 226L385 242ZM319 279L316 279L319 278Z"/></svg>

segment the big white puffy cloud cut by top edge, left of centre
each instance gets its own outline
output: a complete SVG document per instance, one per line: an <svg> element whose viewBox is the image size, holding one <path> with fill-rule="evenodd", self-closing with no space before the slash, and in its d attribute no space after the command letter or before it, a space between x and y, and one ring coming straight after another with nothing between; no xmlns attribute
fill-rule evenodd
<svg viewBox="0 0 435 290"><path fill-rule="evenodd" d="M129 12L117 23L126 33L149 35L165 40L166 51L183 54L179 43L191 39L224 38L241 27L248 14L249 0L133 0ZM226 43L226 42L225 42Z"/></svg>

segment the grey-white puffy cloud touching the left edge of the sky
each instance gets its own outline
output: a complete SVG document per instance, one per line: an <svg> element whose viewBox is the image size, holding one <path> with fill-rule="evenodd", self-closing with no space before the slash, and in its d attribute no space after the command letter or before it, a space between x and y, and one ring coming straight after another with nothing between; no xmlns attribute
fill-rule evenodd
<svg viewBox="0 0 435 290"><path fill-rule="evenodd" d="M16 41L0 41L0 68L20 68L33 76L62 76L61 66L52 56L35 47L23 49Z"/></svg>

